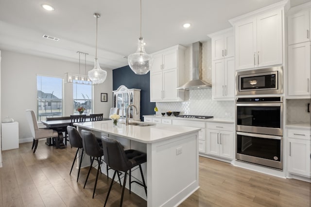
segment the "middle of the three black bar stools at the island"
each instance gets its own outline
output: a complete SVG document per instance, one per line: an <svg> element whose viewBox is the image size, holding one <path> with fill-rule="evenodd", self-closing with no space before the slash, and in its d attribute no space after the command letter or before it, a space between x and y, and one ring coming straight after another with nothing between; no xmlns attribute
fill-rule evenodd
<svg viewBox="0 0 311 207"><path fill-rule="evenodd" d="M86 182L87 182L87 179L88 179L88 175L91 172L91 168L92 168L94 159L96 159L96 161L98 162L97 174L96 174L95 185L94 185L94 190L93 190L93 197L92 197L92 198L94 198L94 194L95 194L95 190L96 190L96 185L97 185L98 174L99 174L99 171L101 169L101 165L103 163L102 157L104 155L104 152L103 152L103 148L100 147L100 145L99 145L95 135L93 134L93 132L86 131L86 130L81 130L81 135L82 135L83 148L84 148L84 150L86 152L86 155L92 157L91 165L89 166L88 173L87 173L87 176L86 176ZM108 177L108 170L109 170L108 169L108 165L106 166L106 170L107 170L107 177ZM119 181L120 181L120 185L121 185L120 175L118 174L118 176L119 176ZM83 188L86 187L86 182L85 182Z"/></svg>

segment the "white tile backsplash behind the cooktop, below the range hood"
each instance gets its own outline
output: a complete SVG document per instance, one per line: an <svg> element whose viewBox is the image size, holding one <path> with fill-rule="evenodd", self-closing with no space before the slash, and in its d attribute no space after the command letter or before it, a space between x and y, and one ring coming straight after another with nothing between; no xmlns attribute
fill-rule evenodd
<svg viewBox="0 0 311 207"><path fill-rule="evenodd" d="M212 100L212 89L197 89L189 91L189 99L183 102L156 102L157 114L166 111L180 111L180 115L205 115L218 118L233 118L235 116L234 101ZM225 116L229 112L230 116Z"/></svg>

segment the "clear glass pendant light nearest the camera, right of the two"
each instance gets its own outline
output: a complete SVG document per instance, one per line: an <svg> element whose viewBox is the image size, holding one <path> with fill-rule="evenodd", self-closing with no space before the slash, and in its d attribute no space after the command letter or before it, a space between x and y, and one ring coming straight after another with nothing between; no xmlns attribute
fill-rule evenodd
<svg viewBox="0 0 311 207"><path fill-rule="evenodd" d="M152 67L154 58L145 52L144 40L141 35L141 0L140 0L140 37L138 38L137 51L127 58L128 64L134 73L147 74Z"/></svg>

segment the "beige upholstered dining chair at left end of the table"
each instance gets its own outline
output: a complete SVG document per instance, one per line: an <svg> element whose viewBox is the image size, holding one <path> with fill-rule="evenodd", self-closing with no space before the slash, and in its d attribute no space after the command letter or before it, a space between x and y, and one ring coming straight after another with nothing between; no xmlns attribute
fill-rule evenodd
<svg viewBox="0 0 311 207"><path fill-rule="evenodd" d="M33 146L31 148L31 149L34 149L34 153L35 153L35 150L37 149L38 142L40 139L47 139L47 138L53 138L53 137L58 138L58 132L56 130L50 129L50 128L39 128L38 127L38 123L37 123L37 119L35 118L34 110L26 110L26 118L27 118L27 121L30 127L30 131L34 138Z"/></svg>

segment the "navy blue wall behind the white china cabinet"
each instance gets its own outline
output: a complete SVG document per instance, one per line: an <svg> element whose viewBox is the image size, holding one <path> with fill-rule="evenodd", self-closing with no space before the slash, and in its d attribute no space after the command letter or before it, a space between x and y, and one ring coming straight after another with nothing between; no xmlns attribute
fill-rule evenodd
<svg viewBox="0 0 311 207"><path fill-rule="evenodd" d="M146 75L137 75L127 65L112 71L113 90L125 85L127 88L140 89L140 120L142 115L155 114L155 102L150 102L150 72Z"/></svg>

